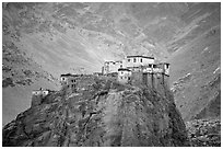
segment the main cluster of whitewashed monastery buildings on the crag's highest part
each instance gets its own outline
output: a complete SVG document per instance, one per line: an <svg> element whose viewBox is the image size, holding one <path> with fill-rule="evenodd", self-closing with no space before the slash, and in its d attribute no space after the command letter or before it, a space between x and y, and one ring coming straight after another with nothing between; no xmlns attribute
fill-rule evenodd
<svg viewBox="0 0 223 149"><path fill-rule="evenodd" d="M155 62L154 57L127 56L121 61L105 61L102 73L108 76L114 72L117 72L120 83L155 88L157 82L168 84L169 64Z"/></svg>

